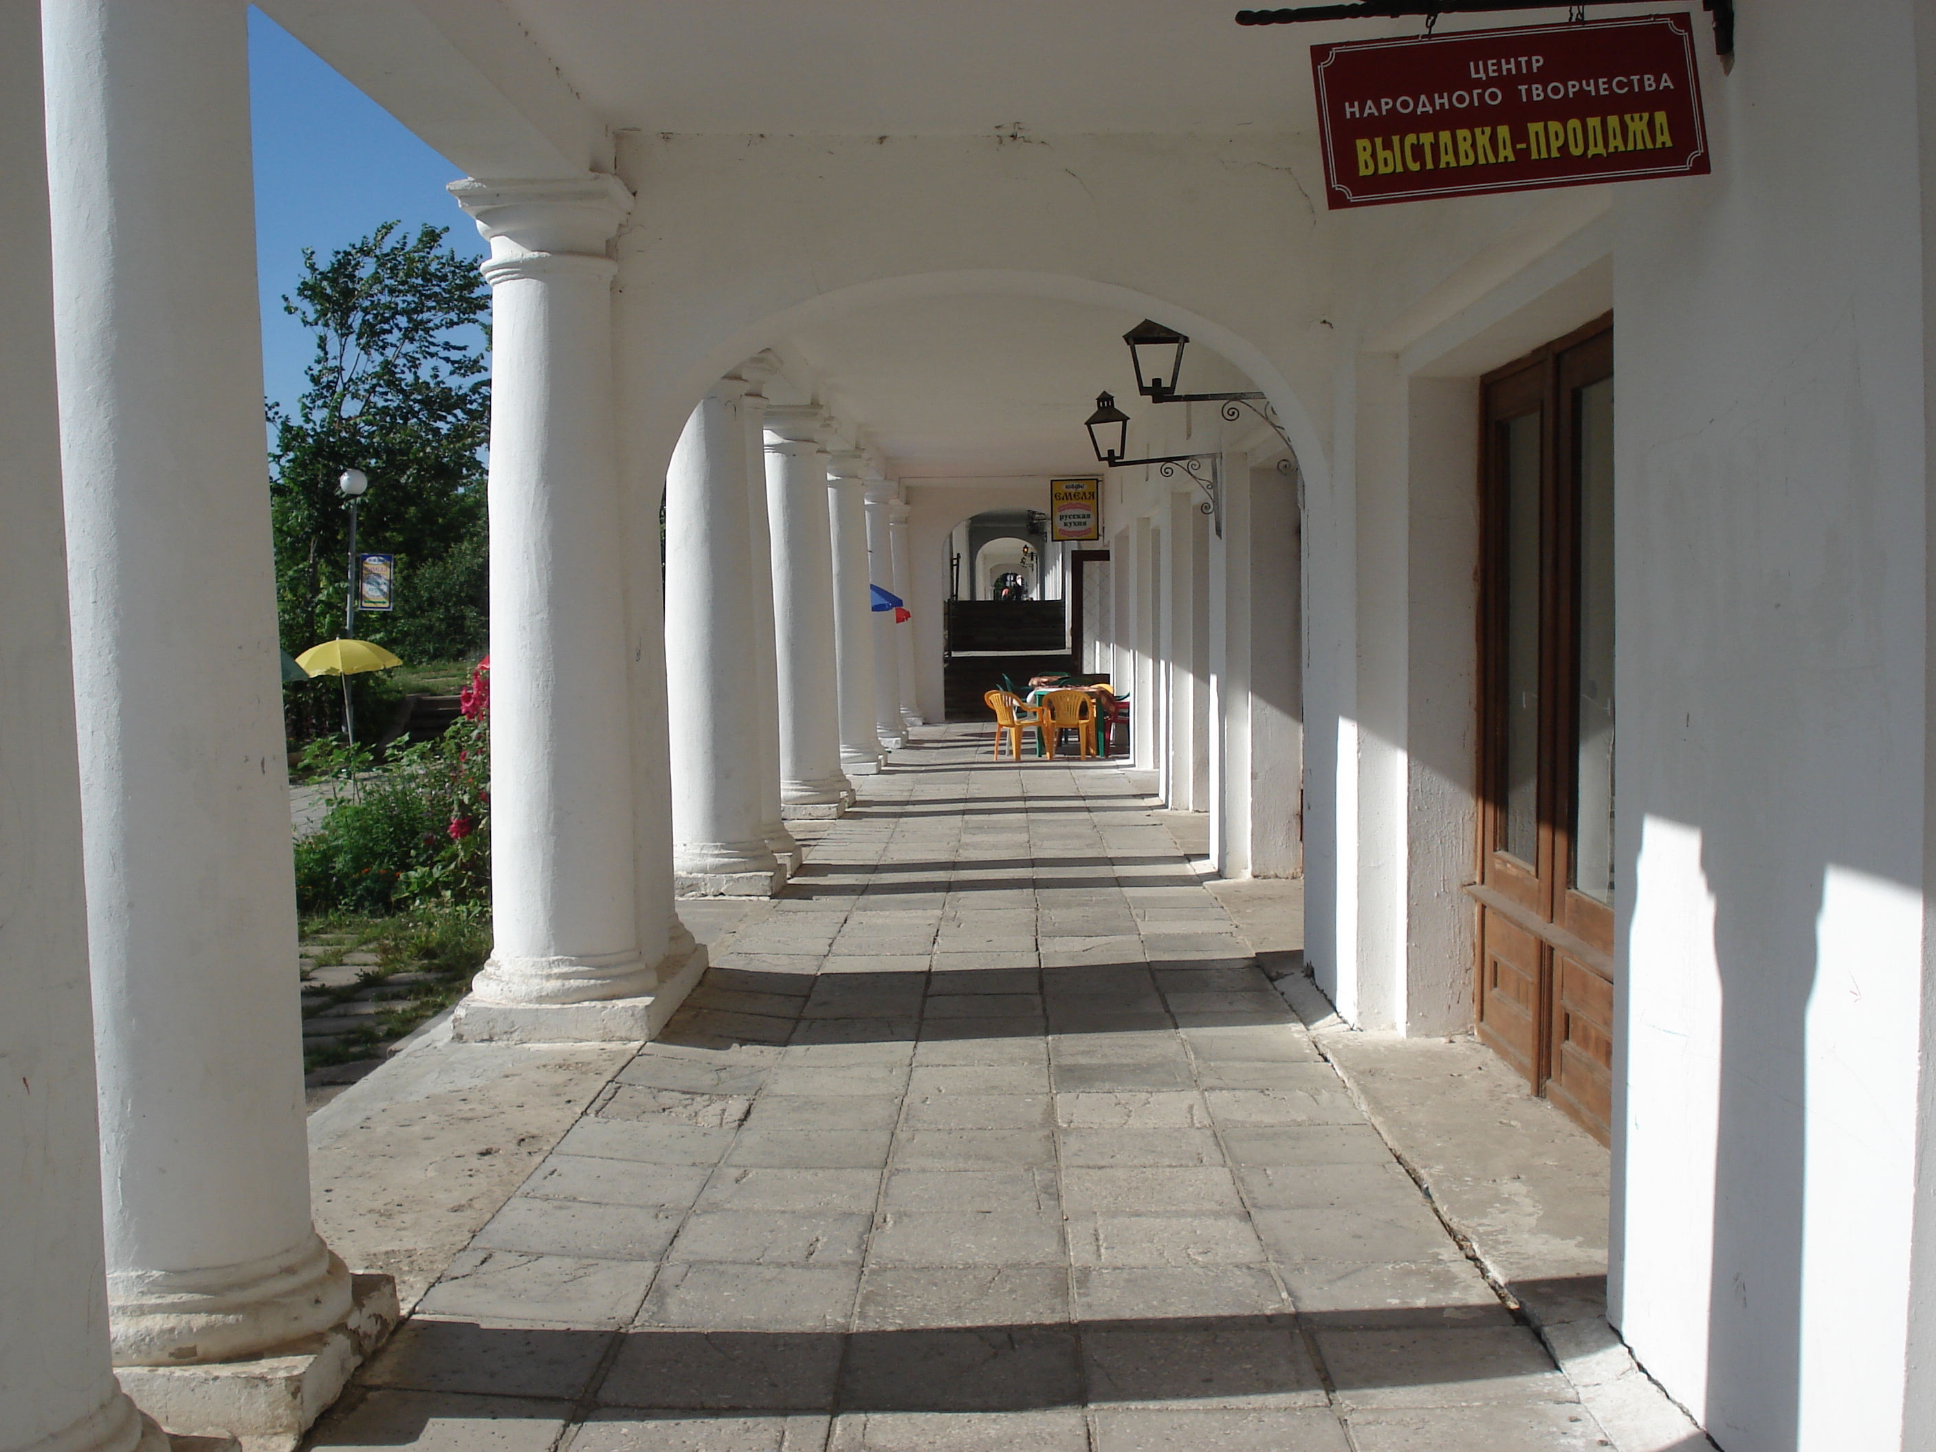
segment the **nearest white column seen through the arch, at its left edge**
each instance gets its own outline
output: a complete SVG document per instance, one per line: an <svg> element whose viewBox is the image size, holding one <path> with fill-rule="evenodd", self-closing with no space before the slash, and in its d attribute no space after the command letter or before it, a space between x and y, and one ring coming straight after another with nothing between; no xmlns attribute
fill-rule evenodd
<svg viewBox="0 0 1936 1452"><path fill-rule="evenodd" d="M759 678L747 590L743 379L699 401L666 470L666 699L680 896L772 896L759 832Z"/></svg>

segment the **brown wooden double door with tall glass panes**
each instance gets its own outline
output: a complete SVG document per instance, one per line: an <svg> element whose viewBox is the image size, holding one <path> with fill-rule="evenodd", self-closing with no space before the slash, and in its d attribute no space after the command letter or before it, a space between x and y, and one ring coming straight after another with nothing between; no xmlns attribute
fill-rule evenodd
<svg viewBox="0 0 1936 1452"><path fill-rule="evenodd" d="M1613 1111L1613 327L1481 395L1479 1038L1601 1140Z"/></svg>

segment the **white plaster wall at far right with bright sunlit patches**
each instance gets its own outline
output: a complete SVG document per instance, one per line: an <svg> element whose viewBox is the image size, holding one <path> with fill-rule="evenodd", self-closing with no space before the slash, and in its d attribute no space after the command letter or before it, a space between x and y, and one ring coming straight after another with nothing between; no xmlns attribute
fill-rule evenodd
<svg viewBox="0 0 1936 1452"><path fill-rule="evenodd" d="M1615 1316L1729 1452L1922 1446L1911 6L1744 23L1717 174L1615 199Z"/></svg>

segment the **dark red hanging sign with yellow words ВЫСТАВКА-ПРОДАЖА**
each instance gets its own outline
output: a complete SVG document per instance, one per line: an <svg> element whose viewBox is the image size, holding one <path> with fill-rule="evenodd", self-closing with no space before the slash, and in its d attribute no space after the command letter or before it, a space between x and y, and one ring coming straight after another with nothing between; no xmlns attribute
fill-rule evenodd
<svg viewBox="0 0 1936 1452"><path fill-rule="evenodd" d="M1332 209L1706 176L1688 15L1311 46Z"/></svg>

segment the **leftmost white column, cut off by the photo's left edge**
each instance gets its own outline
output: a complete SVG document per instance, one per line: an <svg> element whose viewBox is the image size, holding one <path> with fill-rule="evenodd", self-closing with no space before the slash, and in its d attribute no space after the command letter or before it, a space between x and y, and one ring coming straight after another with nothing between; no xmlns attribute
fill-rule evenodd
<svg viewBox="0 0 1936 1452"><path fill-rule="evenodd" d="M0 1448L166 1452L108 1351L41 15L0 2Z"/></svg>

